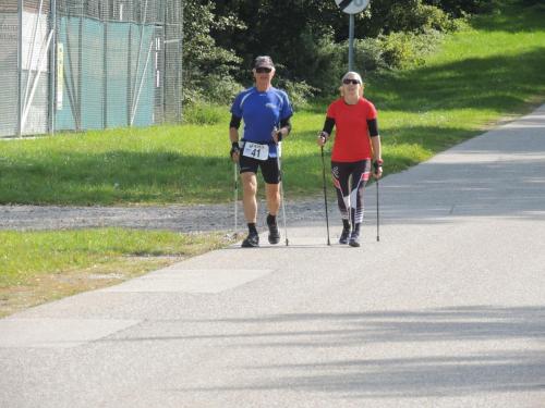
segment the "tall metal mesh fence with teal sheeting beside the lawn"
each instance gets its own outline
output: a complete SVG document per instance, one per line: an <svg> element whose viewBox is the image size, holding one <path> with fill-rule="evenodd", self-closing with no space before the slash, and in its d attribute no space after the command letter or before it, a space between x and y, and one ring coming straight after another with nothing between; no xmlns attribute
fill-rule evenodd
<svg viewBox="0 0 545 408"><path fill-rule="evenodd" d="M181 120L182 0L0 0L0 137Z"/></svg>

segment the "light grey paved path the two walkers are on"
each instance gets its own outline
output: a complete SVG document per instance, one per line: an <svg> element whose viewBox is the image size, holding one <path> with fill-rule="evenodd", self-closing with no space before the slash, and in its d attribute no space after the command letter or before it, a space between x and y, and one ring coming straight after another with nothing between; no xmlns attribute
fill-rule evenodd
<svg viewBox="0 0 545 408"><path fill-rule="evenodd" d="M380 191L379 243L373 186L361 248L306 222L0 320L0 406L544 407L545 107Z"/></svg>

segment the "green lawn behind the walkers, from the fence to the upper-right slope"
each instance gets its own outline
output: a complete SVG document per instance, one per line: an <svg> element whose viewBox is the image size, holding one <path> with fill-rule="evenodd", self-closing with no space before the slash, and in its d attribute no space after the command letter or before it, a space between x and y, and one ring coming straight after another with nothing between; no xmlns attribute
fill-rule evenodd
<svg viewBox="0 0 545 408"><path fill-rule="evenodd" d="M371 78L379 110L385 172L398 172L545 99L545 10L509 5L448 36L423 66ZM232 197L229 108L199 123L15 140L0 151L0 203L153 205ZM286 190L319 194L314 139L326 106L293 118L284 143Z"/></svg>

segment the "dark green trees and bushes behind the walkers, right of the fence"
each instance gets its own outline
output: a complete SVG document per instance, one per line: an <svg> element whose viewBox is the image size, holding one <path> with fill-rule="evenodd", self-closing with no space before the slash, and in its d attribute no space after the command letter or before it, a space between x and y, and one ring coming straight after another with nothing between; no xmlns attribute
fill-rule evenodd
<svg viewBox="0 0 545 408"><path fill-rule="evenodd" d="M453 15L485 10L485 3L491 2L371 2L365 12L354 16L359 66L371 73L417 63L429 48L426 41L438 37L431 33L456 30L459 24ZM334 1L186 0L184 102L232 100L242 86L251 85L249 73L258 54L272 57L279 83L304 82L311 87L291 86L299 91L294 99L315 92L330 95L346 70L347 39L348 15Z"/></svg>

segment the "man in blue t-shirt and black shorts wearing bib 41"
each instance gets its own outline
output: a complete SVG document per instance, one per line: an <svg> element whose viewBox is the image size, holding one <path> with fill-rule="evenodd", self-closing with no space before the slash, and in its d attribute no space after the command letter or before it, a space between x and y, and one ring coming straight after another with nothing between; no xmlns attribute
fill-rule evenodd
<svg viewBox="0 0 545 408"><path fill-rule="evenodd" d="M231 159L240 164L243 186L242 203L246 218L249 235L243 247L258 247L257 234L257 170L265 180L267 198L267 226L270 244L280 242L276 217L280 208L280 169L278 168L277 145L291 131L290 118L293 110L288 95L272 87L275 64L270 57L257 57L253 75L255 86L240 92L231 107L229 138ZM239 144L239 127L244 121L244 133Z"/></svg>

